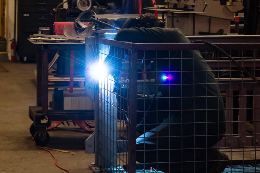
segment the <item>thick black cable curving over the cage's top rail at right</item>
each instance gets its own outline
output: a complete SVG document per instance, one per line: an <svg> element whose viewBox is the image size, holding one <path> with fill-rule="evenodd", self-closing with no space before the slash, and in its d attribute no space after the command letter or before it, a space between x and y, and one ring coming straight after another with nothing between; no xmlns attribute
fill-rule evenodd
<svg viewBox="0 0 260 173"><path fill-rule="evenodd" d="M212 46L213 48L216 48L220 52L224 53L227 57L229 57L229 59L231 59L231 61L233 63L235 63L239 68L241 68L244 71L245 74L250 76L260 86L260 81L257 80L257 78L255 78L255 76L253 76L251 73L249 73L244 67L239 65L239 63L237 63L237 61L235 59L233 59L228 53L226 53L224 50L222 50L221 48L219 48L215 44L212 44L212 43L209 43L209 42L206 42L206 41L202 41L202 40L196 40L196 41L193 41L193 42L190 42L190 43L204 43L204 44L208 44L208 45Z"/></svg>

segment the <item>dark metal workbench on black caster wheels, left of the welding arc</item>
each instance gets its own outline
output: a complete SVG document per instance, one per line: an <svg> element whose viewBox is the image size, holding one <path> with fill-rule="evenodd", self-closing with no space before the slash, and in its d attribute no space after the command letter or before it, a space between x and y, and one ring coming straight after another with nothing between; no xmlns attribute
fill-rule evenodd
<svg viewBox="0 0 260 173"><path fill-rule="evenodd" d="M70 93L73 91L73 61L75 50L85 50L84 43L75 42L43 42L28 39L37 47L37 96L36 105L29 106L29 118L33 121L30 132L34 141L40 146L49 142L46 128L51 121L94 120L94 110L49 110L48 106L48 52L49 50L70 50Z"/></svg>

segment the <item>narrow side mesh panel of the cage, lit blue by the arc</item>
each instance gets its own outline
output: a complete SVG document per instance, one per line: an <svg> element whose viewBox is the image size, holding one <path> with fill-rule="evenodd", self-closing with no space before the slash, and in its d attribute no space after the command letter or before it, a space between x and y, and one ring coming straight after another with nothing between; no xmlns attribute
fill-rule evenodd
<svg viewBox="0 0 260 173"><path fill-rule="evenodd" d="M129 49L99 44L99 63L107 69L99 80L99 165L107 172L122 172L123 166L135 164L135 57Z"/></svg>

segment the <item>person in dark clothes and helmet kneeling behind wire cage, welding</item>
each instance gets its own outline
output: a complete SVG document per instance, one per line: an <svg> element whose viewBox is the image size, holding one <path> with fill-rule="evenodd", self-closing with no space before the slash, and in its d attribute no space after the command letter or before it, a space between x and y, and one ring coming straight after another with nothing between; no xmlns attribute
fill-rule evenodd
<svg viewBox="0 0 260 173"><path fill-rule="evenodd" d="M163 28L153 14L128 19L115 40L190 43L179 29ZM156 110L157 117L149 112L145 117L137 114L138 124L144 124L145 118L145 123L155 125L146 126L150 129L137 127L141 135L136 140L136 160L163 172L223 172L227 163L222 160L227 160L228 156L211 148L226 131L224 103L211 68L198 50L146 51L145 56L142 52L139 55L143 56L145 64L151 63L146 58L157 59L157 84L168 85L159 85L151 96L144 95L155 98L146 101L145 106L138 103L139 111ZM120 67L121 62L110 55L105 62ZM174 79L168 81L167 75Z"/></svg>

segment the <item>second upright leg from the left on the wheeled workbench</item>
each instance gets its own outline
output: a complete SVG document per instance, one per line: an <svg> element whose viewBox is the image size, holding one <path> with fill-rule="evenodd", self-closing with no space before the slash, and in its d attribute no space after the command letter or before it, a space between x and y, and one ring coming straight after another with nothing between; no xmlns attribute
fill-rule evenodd
<svg viewBox="0 0 260 173"><path fill-rule="evenodd" d="M48 50L42 50L42 113L48 116Z"/></svg>

